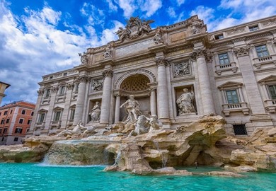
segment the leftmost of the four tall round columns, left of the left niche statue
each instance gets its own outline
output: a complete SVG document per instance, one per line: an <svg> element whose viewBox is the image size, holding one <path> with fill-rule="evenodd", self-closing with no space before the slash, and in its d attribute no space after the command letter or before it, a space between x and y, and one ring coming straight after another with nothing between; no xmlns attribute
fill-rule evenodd
<svg viewBox="0 0 276 191"><path fill-rule="evenodd" d="M74 116L74 125L77 125L78 122L82 119L84 112L84 98L86 95L86 82L88 81L88 76L83 75L79 76L79 91L78 97L76 98L76 111Z"/></svg>

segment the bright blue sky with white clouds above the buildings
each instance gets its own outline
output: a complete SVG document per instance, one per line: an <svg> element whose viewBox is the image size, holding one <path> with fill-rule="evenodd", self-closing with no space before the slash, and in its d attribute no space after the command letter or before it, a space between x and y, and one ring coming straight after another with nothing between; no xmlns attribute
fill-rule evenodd
<svg viewBox="0 0 276 191"><path fill-rule="evenodd" d="M80 64L79 52L117 40L131 16L151 28L198 15L209 32L276 15L275 0L0 0L1 105L36 103L42 76Z"/></svg>

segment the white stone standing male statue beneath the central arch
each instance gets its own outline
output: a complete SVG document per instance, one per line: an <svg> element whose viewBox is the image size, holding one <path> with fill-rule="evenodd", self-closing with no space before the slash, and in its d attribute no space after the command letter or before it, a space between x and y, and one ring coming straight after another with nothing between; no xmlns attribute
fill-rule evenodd
<svg viewBox="0 0 276 191"><path fill-rule="evenodd" d="M136 122L137 117L139 115L142 115L142 113L139 110L139 103L137 100L134 100L134 96L130 95L130 98L123 103L120 108L125 107L127 110L127 118L123 120L125 123L128 122Z"/></svg>

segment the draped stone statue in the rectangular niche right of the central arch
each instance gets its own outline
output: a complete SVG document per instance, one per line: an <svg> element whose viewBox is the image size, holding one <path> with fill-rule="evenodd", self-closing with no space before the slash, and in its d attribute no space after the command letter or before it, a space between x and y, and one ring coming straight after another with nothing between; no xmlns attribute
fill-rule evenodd
<svg viewBox="0 0 276 191"><path fill-rule="evenodd" d="M184 88L183 91L184 93L176 100L179 115L195 112L195 107L192 104L195 99L195 94L193 91L188 92L187 88Z"/></svg>

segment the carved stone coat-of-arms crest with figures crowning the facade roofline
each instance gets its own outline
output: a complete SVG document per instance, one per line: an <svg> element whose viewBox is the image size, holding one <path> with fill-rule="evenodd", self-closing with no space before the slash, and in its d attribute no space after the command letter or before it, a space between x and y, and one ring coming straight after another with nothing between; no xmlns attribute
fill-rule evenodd
<svg viewBox="0 0 276 191"><path fill-rule="evenodd" d="M138 16L131 17L130 20L127 21L125 29L120 27L116 34L119 36L120 41L125 39L132 40L144 35L145 33L149 33L149 31L151 31L150 23L154 23L154 21L142 21Z"/></svg>

